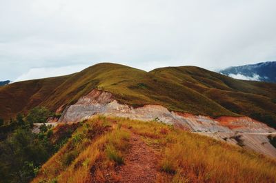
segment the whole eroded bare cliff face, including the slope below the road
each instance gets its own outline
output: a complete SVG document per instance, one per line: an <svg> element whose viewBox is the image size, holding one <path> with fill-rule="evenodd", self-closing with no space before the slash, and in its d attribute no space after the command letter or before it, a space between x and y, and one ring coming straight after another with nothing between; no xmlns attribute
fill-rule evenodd
<svg viewBox="0 0 276 183"><path fill-rule="evenodd" d="M250 117L213 119L202 115L171 112L164 106L158 105L133 108L126 104L119 104L112 98L112 94L96 89L81 97L76 104L63 110L59 122L79 122L97 114L164 122L186 131L215 137L231 144L244 145L259 153L276 157L276 149L267 138L267 135L276 133L275 129Z"/></svg>

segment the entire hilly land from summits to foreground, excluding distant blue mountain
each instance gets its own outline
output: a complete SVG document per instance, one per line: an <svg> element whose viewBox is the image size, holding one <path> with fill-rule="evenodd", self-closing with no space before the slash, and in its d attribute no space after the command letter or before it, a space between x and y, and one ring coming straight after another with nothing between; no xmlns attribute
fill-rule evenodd
<svg viewBox="0 0 276 183"><path fill-rule="evenodd" d="M8 84L0 180L275 182L275 108L276 84L194 66L103 63Z"/></svg>

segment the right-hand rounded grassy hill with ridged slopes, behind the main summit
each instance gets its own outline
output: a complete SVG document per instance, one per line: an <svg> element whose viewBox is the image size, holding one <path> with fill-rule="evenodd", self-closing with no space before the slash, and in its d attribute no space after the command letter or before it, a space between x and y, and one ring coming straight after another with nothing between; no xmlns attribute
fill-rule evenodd
<svg viewBox="0 0 276 183"><path fill-rule="evenodd" d="M276 126L275 84L233 79L193 66L157 68L150 73L197 90L233 113Z"/></svg>

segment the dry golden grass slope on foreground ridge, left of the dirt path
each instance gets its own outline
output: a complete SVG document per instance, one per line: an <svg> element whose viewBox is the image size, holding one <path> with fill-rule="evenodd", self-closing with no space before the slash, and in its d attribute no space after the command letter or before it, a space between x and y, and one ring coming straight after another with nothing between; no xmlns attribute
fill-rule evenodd
<svg viewBox="0 0 276 183"><path fill-rule="evenodd" d="M41 167L32 182L104 182L117 180L114 168L124 164L129 133L106 117L84 122L69 142ZM110 177L106 177L106 172Z"/></svg>

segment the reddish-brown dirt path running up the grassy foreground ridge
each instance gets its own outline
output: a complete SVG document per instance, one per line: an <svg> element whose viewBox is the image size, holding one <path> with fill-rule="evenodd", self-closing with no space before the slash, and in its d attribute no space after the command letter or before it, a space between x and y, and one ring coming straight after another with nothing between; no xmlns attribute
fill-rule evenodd
<svg viewBox="0 0 276 183"><path fill-rule="evenodd" d="M157 178L157 156L139 135L132 134L130 151L125 164L117 171L120 182L155 182Z"/></svg>

